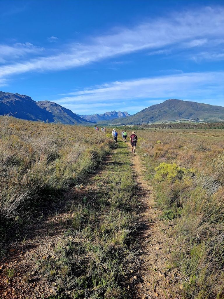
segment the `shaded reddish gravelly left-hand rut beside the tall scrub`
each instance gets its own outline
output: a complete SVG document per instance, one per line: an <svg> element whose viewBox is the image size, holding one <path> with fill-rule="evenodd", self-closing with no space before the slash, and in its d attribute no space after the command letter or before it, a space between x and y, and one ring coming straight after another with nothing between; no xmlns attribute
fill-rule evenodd
<svg viewBox="0 0 224 299"><path fill-rule="evenodd" d="M56 287L43 280L36 271L37 265L39 260L54 256L55 248L66 241L64 234L74 217L72 206L88 196L90 187L94 196L93 178L102 173L110 159L111 154L85 181L63 193L61 199L45 211L44 216L26 225L23 240L9 239L6 256L0 263L0 299L39 299L56 294Z"/></svg>

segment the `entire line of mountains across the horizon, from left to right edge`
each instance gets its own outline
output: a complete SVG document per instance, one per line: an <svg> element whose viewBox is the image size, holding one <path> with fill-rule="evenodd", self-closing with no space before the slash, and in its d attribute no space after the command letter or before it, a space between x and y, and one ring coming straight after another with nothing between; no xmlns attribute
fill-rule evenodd
<svg viewBox="0 0 224 299"><path fill-rule="evenodd" d="M128 112L111 111L103 114L78 115L54 102L36 102L24 94L0 91L0 115L10 114L25 120L61 122L71 125L132 125L144 123L168 123L173 121L222 121L224 107L209 104L166 100L150 106L134 115Z"/></svg>

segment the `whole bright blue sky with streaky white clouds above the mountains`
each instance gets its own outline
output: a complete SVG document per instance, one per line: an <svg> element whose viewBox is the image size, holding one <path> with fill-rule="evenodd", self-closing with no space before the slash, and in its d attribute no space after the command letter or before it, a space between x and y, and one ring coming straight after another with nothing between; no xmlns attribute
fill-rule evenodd
<svg viewBox="0 0 224 299"><path fill-rule="evenodd" d="M224 106L224 2L0 0L0 90L78 114Z"/></svg>

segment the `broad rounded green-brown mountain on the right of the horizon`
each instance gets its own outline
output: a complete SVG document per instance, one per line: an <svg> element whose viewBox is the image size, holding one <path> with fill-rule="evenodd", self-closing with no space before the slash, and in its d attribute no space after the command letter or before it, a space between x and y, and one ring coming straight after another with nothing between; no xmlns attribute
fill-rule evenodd
<svg viewBox="0 0 224 299"><path fill-rule="evenodd" d="M126 118L114 119L110 124L168 123L172 121L220 121L224 120L224 107L169 99L152 105ZM107 122L109 123L109 122Z"/></svg>

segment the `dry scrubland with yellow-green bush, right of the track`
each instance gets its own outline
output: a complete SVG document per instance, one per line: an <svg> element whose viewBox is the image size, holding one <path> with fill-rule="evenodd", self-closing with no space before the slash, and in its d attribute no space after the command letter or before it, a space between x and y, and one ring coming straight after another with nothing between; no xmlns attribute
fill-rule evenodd
<svg viewBox="0 0 224 299"><path fill-rule="evenodd" d="M167 267L181 267L186 298L224 298L224 130L136 134L157 206L175 224Z"/></svg>

